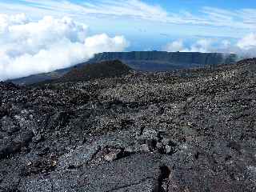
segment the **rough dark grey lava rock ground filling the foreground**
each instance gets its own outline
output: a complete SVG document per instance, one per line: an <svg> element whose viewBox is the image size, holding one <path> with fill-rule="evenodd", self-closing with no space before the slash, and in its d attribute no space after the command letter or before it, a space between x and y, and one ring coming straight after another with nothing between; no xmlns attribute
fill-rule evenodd
<svg viewBox="0 0 256 192"><path fill-rule="evenodd" d="M0 83L0 191L255 191L255 61Z"/></svg>

